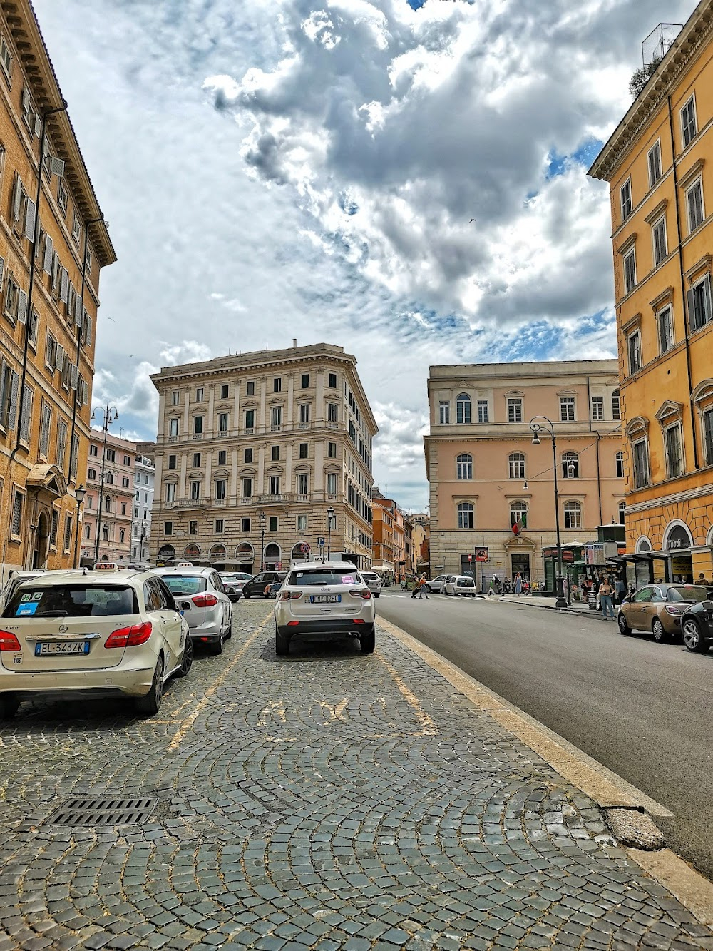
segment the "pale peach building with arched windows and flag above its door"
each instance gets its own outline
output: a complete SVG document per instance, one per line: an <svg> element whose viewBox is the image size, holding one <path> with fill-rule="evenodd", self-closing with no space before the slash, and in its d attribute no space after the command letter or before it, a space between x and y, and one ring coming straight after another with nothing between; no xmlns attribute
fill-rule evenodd
<svg viewBox="0 0 713 951"><path fill-rule="evenodd" d="M480 585L521 572L544 582L543 553L556 543L555 465L563 545L596 541L598 526L623 519L617 370L615 359L431 367L433 577L475 573ZM542 419L548 428L532 445L534 417L551 420L556 459Z"/></svg>

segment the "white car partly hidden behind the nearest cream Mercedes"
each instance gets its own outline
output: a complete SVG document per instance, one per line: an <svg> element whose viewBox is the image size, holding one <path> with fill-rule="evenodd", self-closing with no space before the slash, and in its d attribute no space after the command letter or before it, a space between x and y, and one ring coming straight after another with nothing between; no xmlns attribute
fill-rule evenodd
<svg viewBox="0 0 713 951"><path fill-rule="evenodd" d="M178 602L194 641L222 653L222 642L232 634L233 604L225 593L221 576L212 568L176 565L155 568Z"/></svg>

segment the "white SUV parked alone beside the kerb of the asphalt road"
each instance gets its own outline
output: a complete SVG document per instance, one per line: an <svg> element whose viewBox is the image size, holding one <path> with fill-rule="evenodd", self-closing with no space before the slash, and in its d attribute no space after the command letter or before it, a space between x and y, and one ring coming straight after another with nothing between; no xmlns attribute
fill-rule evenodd
<svg viewBox="0 0 713 951"><path fill-rule="evenodd" d="M351 562L294 565L275 603L275 652L289 653L295 634L351 634L372 653L375 617L372 592Z"/></svg>

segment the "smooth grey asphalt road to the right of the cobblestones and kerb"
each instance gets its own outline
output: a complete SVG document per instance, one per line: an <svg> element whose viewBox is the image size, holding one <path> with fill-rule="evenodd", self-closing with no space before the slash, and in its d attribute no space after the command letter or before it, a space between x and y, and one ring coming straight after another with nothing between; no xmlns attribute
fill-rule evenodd
<svg viewBox="0 0 713 951"><path fill-rule="evenodd" d="M713 880L713 651L527 603L387 590L376 608L667 806L667 844Z"/></svg>

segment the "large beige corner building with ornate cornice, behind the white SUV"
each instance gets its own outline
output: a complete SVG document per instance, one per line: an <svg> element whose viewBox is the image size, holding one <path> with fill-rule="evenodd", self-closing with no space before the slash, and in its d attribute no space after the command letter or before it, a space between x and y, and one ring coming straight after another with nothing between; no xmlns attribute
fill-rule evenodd
<svg viewBox="0 0 713 951"><path fill-rule="evenodd" d="M330 555L371 567L376 422L355 357L293 341L152 380L152 560L258 573Z"/></svg>

